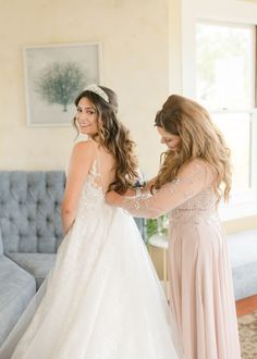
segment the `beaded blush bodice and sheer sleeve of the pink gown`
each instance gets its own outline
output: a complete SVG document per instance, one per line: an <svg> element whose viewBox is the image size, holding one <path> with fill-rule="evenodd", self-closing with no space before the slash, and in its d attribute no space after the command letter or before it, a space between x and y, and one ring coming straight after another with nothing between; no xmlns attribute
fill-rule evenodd
<svg viewBox="0 0 257 359"><path fill-rule="evenodd" d="M216 213L216 196L211 184L213 170L201 160L188 163L179 176L155 195L125 197L121 207L134 216L156 218L170 213L172 221L198 221Z"/></svg>

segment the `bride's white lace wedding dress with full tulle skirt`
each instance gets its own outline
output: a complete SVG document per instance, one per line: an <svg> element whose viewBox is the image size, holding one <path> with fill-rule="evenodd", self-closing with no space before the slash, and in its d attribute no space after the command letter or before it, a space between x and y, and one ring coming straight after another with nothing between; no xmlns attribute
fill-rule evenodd
<svg viewBox="0 0 257 359"><path fill-rule="evenodd" d="M96 159L33 320L19 344L11 334L15 349L5 345L1 359L181 357L145 244L133 218L105 202L98 168Z"/></svg>

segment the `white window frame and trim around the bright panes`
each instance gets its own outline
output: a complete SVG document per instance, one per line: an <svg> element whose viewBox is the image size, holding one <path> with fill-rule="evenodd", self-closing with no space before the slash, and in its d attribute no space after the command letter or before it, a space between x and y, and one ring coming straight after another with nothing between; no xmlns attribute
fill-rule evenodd
<svg viewBox="0 0 257 359"><path fill-rule="evenodd" d="M253 16L253 8L257 10L256 4L252 3L238 3L230 0L229 3L222 3L222 0L217 0L215 8L211 0L201 2L195 0L194 4L189 0L182 0L182 90L183 95L192 98L196 98L196 25L199 22L204 23L221 23L231 26L253 26L257 24L256 16ZM233 9L231 7L233 2ZM229 7L230 5L230 7ZM228 10L227 8L230 8ZM225 8L225 9L224 9ZM212 9L212 10L211 10ZM211 14L211 15L210 15ZM224 14L229 14L228 16ZM235 16L235 14L237 16ZM257 41L257 36L255 36ZM221 219L233 220L236 218L249 216L257 213L257 89L256 89L256 66L257 66L257 46L255 46L255 84L253 84L253 99L254 108L245 109L246 112L252 113L252 158L250 158L250 171L253 186L250 189L241 193L240 195L232 196L229 205L221 202L220 215ZM231 111L233 109L216 111L223 112ZM210 111L210 114L216 112ZM238 110L236 110L237 112Z"/></svg>

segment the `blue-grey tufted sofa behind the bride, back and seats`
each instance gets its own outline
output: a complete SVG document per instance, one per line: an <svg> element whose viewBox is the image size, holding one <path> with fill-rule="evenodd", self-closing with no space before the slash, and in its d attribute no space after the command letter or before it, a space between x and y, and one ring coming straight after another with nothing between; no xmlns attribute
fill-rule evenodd
<svg viewBox="0 0 257 359"><path fill-rule="evenodd" d="M61 171L0 171L0 346L54 264L64 185Z"/></svg>

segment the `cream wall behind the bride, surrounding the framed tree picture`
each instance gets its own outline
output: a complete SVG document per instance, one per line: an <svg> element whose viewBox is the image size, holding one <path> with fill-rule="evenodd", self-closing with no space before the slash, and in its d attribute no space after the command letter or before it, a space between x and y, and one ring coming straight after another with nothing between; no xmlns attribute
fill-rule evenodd
<svg viewBox="0 0 257 359"><path fill-rule="evenodd" d="M169 88L169 12L164 0L0 0L0 169L63 169L72 127L26 124L24 46L102 44L103 83L138 144L143 170L158 168L154 116ZM147 169L147 170L146 170Z"/></svg>

